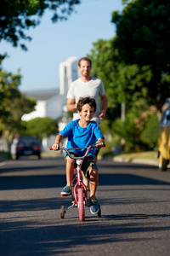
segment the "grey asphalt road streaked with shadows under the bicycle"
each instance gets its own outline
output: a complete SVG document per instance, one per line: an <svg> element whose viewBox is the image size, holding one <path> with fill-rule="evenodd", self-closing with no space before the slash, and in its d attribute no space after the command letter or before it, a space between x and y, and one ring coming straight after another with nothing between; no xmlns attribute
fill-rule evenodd
<svg viewBox="0 0 170 256"><path fill-rule="evenodd" d="M21 158L0 166L0 255L170 255L170 170L99 160L102 218L76 207L60 218L62 157Z"/></svg>

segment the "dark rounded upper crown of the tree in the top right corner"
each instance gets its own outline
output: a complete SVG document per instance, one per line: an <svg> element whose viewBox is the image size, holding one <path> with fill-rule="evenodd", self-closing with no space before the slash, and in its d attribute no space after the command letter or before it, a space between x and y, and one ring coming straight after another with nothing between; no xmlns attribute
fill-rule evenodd
<svg viewBox="0 0 170 256"><path fill-rule="evenodd" d="M167 72L169 63L170 3L165 0L131 1L122 14L114 12L116 48L128 64L150 65ZM118 16L118 17L117 17Z"/></svg>

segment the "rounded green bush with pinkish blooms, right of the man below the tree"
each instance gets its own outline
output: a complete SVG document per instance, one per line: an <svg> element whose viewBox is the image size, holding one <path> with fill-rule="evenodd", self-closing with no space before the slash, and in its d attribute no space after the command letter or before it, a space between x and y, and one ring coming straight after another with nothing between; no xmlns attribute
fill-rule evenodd
<svg viewBox="0 0 170 256"><path fill-rule="evenodd" d="M115 146L123 146L124 152L150 150L156 147L158 138L157 110L155 107L149 107L147 101L141 98L128 109L124 122L121 118L115 119L112 123L105 119L100 129L105 134L106 144L110 147L105 149L106 152L108 149L113 152L112 148ZM111 134L111 138L108 137L108 133Z"/></svg>

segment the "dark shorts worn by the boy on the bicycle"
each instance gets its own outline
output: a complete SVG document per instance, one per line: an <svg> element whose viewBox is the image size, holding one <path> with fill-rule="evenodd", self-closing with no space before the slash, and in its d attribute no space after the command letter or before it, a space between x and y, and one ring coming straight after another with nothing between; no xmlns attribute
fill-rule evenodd
<svg viewBox="0 0 170 256"><path fill-rule="evenodd" d="M70 154L74 154L75 156L82 156L82 154L77 154L76 152L70 151ZM66 157L67 155L65 155ZM88 155L85 157L85 159L82 161L81 170L84 173L85 177L90 178L89 176L89 170L90 169L96 169L98 171L98 167L94 163L94 158L92 155Z"/></svg>

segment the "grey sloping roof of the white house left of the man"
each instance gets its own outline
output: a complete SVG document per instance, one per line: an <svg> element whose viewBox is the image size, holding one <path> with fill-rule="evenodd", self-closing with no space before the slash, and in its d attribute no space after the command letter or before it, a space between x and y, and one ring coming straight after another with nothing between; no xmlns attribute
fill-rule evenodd
<svg viewBox="0 0 170 256"><path fill-rule="evenodd" d="M34 97L37 101L48 101L55 95L59 95L59 89L48 90L28 90L23 91L23 94L29 97Z"/></svg>

